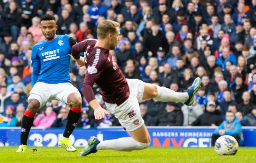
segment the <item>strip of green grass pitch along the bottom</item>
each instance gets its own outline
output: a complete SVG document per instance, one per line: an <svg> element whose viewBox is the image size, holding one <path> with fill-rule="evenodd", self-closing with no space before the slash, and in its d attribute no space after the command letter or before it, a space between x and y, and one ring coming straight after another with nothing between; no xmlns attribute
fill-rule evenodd
<svg viewBox="0 0 256 163"><path fill-rule="evenodd" d="M16 153L18 147L0 147L1 163L256 163L256 148L239 147L235 156L219 156L214 148L150 147L143 151L98 151L86 157L66 152L60 147L28 147L26 153ZM36 148L37 151L32 149Z"/></svg>

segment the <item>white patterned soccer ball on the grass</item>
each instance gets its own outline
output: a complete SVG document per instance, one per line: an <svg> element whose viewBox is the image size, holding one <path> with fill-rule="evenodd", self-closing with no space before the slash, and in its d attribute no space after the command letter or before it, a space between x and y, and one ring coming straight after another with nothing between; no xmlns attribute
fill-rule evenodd
<svg viewBox="0 0 256 163"><path fill-rule="evenodd" d="M218 155L235 155L238 150L238 142L229 135L219 137L214 145L214 149Z"/></svg>

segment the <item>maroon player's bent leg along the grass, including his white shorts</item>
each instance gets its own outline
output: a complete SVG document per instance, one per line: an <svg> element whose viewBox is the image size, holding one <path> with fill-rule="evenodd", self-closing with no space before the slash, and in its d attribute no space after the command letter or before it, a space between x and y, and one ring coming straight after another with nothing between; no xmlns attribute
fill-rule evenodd
<svg viewBox="0 0 256 163"><path fill-rule="evenodd" d="M132 85L133 84L133 85ZM144 120L140 115L140 106L137 93L134 93L131 86L139 87L141 84L130 83L130 97L120 106L106 103L107 108L118 118L122 127L132 137L122 137L113 140L100 141L96 137L88 140L88 145L81 151L79 156L86 156L90 153L96 153L98 150L114 149L116 151L134 151L146 149L150 144L150 136L144 125ZM142 83L143 86L143 83ZM143 94L143 89L142 91Z"/></svg>

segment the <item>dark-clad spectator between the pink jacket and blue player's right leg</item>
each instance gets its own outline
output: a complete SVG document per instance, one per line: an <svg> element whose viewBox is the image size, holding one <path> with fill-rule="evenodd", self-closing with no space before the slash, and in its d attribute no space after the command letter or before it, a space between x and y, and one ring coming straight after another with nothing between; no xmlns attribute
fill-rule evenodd
<svg viewBox="0 0 256 163"><path fill-rule="evenodd" d="M64 128L68 122L68 112L69 112L69 108L62 107L60 109L60 113L58 114L56 120L53 122L52 127Z"/></svg>

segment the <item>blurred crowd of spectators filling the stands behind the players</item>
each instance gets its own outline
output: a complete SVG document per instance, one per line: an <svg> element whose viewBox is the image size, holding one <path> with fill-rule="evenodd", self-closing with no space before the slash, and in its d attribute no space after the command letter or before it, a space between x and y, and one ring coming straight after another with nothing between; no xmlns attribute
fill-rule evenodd
<svg viewBox="0 0 256 163"><path fill-rule="evenodd" d="M176 92L202 79L192 106L142 102L146 126L219 126L227 111L242 126L256 126L256 0L0 0L0 126L20 126L32 89L31 49L44 39L43 14L56 17L57 34L77 42L97 38L104 19L120 23L110 53L128 79ZM81 91L86 67L70 63L71 82ZM93 90L105 107L96 84ZM34 126L65 127L68 111L52 100ZM120 124L112 114L96 121L83 100L77 127L96 126Z"/></svg>

